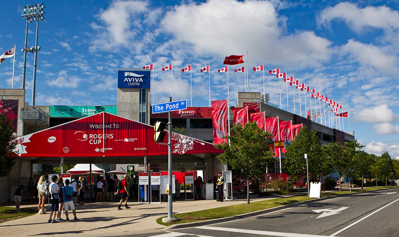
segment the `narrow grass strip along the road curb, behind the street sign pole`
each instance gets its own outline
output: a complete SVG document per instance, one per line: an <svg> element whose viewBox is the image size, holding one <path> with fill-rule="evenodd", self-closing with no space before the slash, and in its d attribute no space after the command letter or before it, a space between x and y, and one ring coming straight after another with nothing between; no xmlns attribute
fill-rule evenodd
<svg viewBox="0 0 399 237"><path fill-rule="evenodd" d="M386 189L386 188L391 188L391 187L390 186L388 186L388 187L370 187L370 188L365 188L363 190L354 189L352 191L328 192L328 193L326 193L325 196L329 197L329 196L340 195L340 194L367 192L367 191ZM245 213L256 212L256 211L265 210L265 209L269 209L269 208L273 208L273 207L279 207L279 206L283 206L283 205L287 205L287 204L303 202L303 201L307 201L307 200L311 200L311 199L314 199L314 198L308 198L307 196L296 196L296 197L289 197L289 198L278 198L278 199L271 199L271 200L265 200L265 201L259 201L259 202L252 202L249 205L240 204L240 205L233 205L233 206L227 206L227 207L219 207L219 208L207 209L207 210L203 210L203 211L176 214L173 217L178 218L179 221L174 222L174 223L163 223L162 219L164 217L161 217L161 218L157 219L157 223L164 225L164 226L171 226L171 225L175 225L175 224L182 224L182 223L189 223L189 222L207 221L207 220L219 219L219 218L223 218L223 217L232 217L232 216L241 215L241 214L245 214ZM185 218L185 217L189 217L189 218L194 217L195 219L183 220L183 218Z"/></svg>

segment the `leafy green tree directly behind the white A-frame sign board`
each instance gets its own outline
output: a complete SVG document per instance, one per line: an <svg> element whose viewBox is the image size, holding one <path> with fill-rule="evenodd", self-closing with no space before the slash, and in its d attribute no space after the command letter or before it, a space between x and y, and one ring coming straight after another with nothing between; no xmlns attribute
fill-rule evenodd
<svg viewBox="0 0 399 237"><path fill-rule="evenodd" d="M306 177L305 153L308 154L309 180L317 181L320 173L331 173L331 164L324 155L316 131L309 130L304 126L299 130L295 140L288 145L287 153L285 153L287 157L285 171L294 180Z"/></svg>

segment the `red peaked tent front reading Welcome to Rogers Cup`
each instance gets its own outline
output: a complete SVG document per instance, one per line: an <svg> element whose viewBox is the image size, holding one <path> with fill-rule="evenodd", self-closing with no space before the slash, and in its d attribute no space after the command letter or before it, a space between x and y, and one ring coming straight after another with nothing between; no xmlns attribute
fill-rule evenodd
<svg viewBox="0 0 399 237"><path fill-rule="evenodd" d="M168 135L165 141L168 140ZM17 138L21 157L167 155L154 127L102 112ZM212 143L172 132L173 154L221 153Z"/></svg>

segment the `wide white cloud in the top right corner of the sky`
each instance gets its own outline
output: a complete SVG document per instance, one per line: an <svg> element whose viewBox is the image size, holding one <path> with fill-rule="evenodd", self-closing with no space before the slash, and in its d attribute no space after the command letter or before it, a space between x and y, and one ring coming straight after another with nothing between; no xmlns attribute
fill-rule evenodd
<svg viewBox="0 0 399 237"><path fill-rule="evenodd" d="M318 21L321 24L328 25L335 18L343 19L356 32L361 32L365 27L399 28L398 11L394 11L387 6L359 8L350 2L340 2L333 7L324 9Z"/></svg>

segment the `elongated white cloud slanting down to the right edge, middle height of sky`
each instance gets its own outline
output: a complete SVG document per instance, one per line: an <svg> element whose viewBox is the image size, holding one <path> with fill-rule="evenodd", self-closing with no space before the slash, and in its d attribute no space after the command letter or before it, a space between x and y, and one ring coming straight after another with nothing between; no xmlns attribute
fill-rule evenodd
<svg viewBox="0 0 399 237"><path fill-rule="evenodd" d="M353 39L342 46L344 53L349 53L351 58L362 66L373 67L383 74L397 74L398 57L385 53L380 47L372 44L364 44Z"/></svg>

